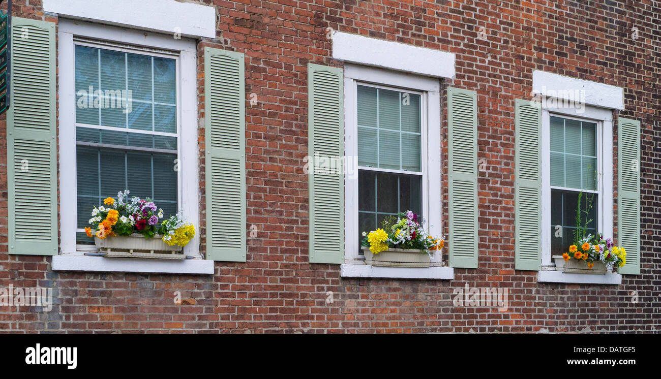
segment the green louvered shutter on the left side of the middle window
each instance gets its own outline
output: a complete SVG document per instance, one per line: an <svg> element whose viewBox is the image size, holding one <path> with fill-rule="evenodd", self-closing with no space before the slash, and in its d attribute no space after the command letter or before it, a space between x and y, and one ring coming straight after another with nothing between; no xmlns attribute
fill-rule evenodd
<svg viewBox="0 0 661 379"><path fill-rule="evenodd" d="M308 155L338 160L344 155L344 73L308 63ZM321 160L321 159L320 159ZM344 263L344 174L315 172L309 162L309 261Z"/></svg>

